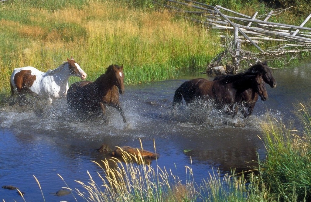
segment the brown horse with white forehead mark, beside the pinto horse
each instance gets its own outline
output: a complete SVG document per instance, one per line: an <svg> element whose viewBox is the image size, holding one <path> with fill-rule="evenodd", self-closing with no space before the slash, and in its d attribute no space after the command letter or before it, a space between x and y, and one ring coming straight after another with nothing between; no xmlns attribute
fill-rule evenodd
<svg viewBox="0 0 311 202"><path fill-rule="evenodd" d="M104 114L105 122L106 106L112 106L120 112L125 123L126 119L119 102L119 93L122 95L125 92L123 80L123 64L112 64L94 82L82 81L72 84L67 92L67 104L83 113L95 112L95 116Z"/></svg>

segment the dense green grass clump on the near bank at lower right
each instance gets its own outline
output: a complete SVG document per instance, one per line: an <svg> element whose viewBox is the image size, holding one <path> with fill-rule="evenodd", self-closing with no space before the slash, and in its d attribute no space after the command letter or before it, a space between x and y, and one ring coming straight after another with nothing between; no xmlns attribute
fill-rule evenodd
<svg viewBox="0 0 311 202"><path fill-rule="evenodd" d="M261 165L262 182L281 201L311 200L310 103L297 106L297 116L304 125L301 134L273 120L263 125L267 159Z"/></svg>

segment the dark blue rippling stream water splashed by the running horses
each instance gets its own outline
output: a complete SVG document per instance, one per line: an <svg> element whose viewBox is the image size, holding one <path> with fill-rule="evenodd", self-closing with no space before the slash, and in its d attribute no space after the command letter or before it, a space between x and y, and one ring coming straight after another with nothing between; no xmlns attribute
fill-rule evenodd
<svg viewBox="0 0 311 202"><path fill-rule="evenodd" d="M221 174L231 167L241 171L254 165L257 153L265 158L265 149L258 127L268 115L276 119L295 119L293 103L310 97L311 64L286 70L275 70L276 88L267 91L269 99L256 103L248 119L230 119L215 110L197 107L191 115L188 107L178 111L171 108L174 91L186 80L154 82L128 86L120 96L127 124L114 109L109 110L110 122L80 122L67 110L66 102L41 112L39 108L2 107L0 109L0 186L13 185L25 192L27 202L43 201L34 176L38 179L46 201L74 201L72 195L54 196L51 193L67 185L83 190L75 180L87 182L87 171L100 185L96 171L103 173L94 162L103 155L95 152L102 143L114 146L140 147L160 154L160 168L171 169L182 182L188 179L185 166L193 170L200 184L209 172L220 169ZM200 75L206 77L206 75ZM212 80L212 77L208 77ZM297 125L299 128L299 125ZM184 153L184 149L192 149ZM156 167L156 162L152 165ZM64 181L57 175L61 175ZM34 175L34 176L33 176ZM75 194L78 201L82 201ZM23 201L16 190L0 188L0 199Z"/></svg>

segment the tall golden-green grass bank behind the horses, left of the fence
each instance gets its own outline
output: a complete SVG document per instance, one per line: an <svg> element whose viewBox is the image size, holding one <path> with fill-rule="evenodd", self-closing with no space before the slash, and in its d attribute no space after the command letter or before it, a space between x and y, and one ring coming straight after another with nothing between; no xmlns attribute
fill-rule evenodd
<svg viewBox="0 0 311 202"><path fill-rule="evenodd" d="M168 12L129 9L118 1L8 1L0 6L0 90L13 68L57 68L73 56L95 80L124 64L126 84L204 71L218 38ZM71 79L74 82L77 79Z"/></svg>

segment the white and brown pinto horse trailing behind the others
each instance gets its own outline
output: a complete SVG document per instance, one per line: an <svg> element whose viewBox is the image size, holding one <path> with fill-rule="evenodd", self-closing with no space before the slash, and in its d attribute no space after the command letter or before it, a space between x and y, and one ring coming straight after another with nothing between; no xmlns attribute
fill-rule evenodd
<svg viewBox="0 0 311 202"><path fill-rule="evenodd" d="M23 105L26 94L46 98L49 104L54 99L66 97L70 76L86 78L86 73L71 57L54 70L41 72L34 67L21 67L13 70L11 75L11 97L18 94L19 103ZM12 104L12 103L11 103Z"/></svg>

